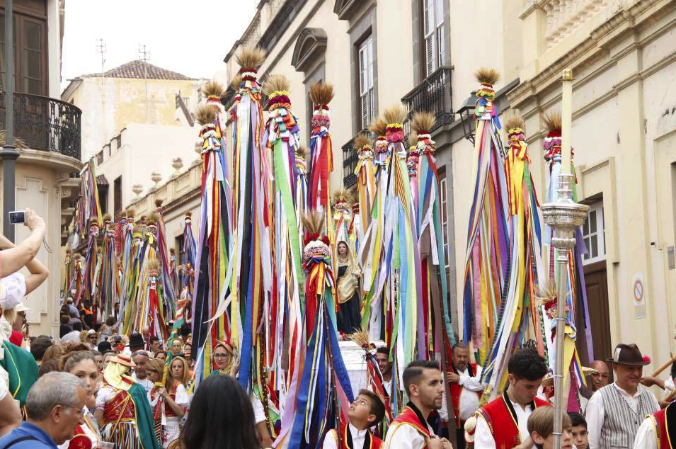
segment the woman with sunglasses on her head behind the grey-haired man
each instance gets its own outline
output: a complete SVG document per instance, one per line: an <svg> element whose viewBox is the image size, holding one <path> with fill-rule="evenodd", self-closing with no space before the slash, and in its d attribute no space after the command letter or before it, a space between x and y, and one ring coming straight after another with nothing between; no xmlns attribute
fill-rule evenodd
<svg viewBox="0 0 676 449"><path fill-rule="evenodd" d="M59 449L93 449L101 441L96 419L89 409L96 407L96 391L98 390L98 366L91 351L72 351L61 358L61 370L71 373L84 382L86 392L85 407L82 409L84 424L75 426L73 438L59 445Z"/></svg>

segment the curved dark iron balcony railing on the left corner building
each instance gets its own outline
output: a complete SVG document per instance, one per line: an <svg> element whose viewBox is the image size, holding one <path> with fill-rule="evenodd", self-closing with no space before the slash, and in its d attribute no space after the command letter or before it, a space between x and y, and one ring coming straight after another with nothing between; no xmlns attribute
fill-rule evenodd
<svg viewBox="0 0 676 449"><path fill-rule="evenodd" d="M5 112L3 92L0 93L0 127L4 127ZM57 152L80 160L81 115L79 108L65 101L15 93L14 137L23 140L30 149Z"/></svg>

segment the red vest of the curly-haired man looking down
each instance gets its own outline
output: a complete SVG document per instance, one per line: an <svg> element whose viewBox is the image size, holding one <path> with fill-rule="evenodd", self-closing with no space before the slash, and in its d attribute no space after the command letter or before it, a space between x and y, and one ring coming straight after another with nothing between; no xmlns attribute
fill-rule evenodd
<svg viewBox="0 0 676 449"><path fill-rule="evenodd" d="M530 408L534 410L537 407L551 407L551 404L536 397L530 403ZM521 444L519 422L507 392L481 407L479 413L491 429L496 448L511 449Z"/></svg>

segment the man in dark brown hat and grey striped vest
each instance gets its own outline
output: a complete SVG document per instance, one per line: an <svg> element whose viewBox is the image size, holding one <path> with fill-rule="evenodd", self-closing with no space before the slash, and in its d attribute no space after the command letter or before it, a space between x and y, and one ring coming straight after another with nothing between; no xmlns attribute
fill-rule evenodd
<svg viewBox="0 0 676 449"><path fill-rule="evenodd" d="M600 388L587 405L590 449L632 448L643 418L660 409L655 395L641 385L643 366L636 344L615 346L612 363L615 382Z"/></svg>

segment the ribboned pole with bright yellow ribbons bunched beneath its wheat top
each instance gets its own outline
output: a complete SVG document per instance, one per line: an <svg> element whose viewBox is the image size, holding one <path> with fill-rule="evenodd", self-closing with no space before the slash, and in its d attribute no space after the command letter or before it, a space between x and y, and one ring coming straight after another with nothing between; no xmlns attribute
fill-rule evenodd
<svg viewBox="0 0 676 449"><path fill-rule="evenodd" d="M508 363L512 352L527 334L537 341L544 337L543 318L537 307L537 293L542 268L542 232L538 202L530 173L530 159L525 138L525 123L519 116L510 117L509 147L505 157L508 185L510 266L503 314L493 336L489 362L484 366L486 399L493 399L507 383ZM529 332L530 331L530 332ZM541 349L542 351L542 349Z"/></svg>

